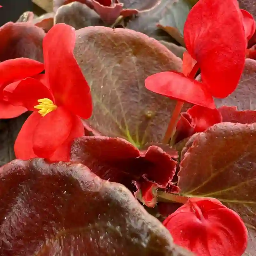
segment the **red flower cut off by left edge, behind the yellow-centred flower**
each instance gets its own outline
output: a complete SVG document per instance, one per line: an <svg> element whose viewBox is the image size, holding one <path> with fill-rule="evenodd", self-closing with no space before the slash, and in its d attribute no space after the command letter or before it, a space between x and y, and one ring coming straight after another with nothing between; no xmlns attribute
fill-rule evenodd
<svg viewBox="0 0 256 256"><path fill-rule="evenodd" d="M4 88L17 80L34 76L44 70L44 64L27 58L17 58L0 62L0 118L20 116L28 109L23 106L13 106L4 100Z"/></svg>

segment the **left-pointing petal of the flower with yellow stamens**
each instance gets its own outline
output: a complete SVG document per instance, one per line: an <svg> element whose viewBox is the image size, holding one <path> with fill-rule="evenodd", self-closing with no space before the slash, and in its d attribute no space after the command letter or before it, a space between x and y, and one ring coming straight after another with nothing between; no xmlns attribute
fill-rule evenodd
<svg viewBox="0 0 256 256"><path fill-rule="evenodd" d="M23 106L35 111L37 100L48 98L53 100L50 90L39 80L28 77L18 82L7 85L3 91L4 99L15 106ZM54 100L53 100L54 101Z"/></svg>

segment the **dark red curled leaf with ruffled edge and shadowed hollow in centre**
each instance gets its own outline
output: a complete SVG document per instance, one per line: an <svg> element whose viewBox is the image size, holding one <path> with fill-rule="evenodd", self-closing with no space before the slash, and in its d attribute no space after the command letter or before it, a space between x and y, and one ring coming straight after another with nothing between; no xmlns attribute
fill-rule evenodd
<svg viewBox="0 0 256 256"><path fill-rule="evenodd" d="M140 152L121 138L78 138L71 148L70 159L88 166L102 179L122 183L132 191L135 190L132 183L136 182L145 193L152 183L165 188L176 171L176 161L161 148L150 146L146 152Z"/></svg>

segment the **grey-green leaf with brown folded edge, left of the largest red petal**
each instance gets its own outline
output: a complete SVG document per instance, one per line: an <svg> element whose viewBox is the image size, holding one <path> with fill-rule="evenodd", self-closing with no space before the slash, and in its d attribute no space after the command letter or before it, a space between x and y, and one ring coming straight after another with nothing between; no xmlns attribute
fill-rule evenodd
<svg viewBox="0 0 256 256"><path fill-rule="evenodd" d="M178 0L166 7L164 17L159 21L158 28L164 29L177 42L185 46L183 38L184 24L191 6L186 0Z"/></svg>

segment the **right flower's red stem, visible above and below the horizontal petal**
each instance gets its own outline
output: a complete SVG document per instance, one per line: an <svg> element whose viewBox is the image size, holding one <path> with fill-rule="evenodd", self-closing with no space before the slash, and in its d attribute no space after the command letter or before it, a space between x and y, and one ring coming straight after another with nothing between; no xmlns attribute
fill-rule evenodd
<svg viewBox="0 0 256 256"><path fill-rule="evenodd" d="M198 69L199 69L199 66L196 62L196 64L194 65L194 67L192 68L190 73L188 74L188 78L194 78L196 76L196 72L197 72ZM167 128L165 134L164 134L164 139L162 140L162 143L169 144L170 139L174 135L176 125L179 121L180 111L183 107L183 104L184 104L183 101L177 100L176 106L175 106L175 108L172 112L172 117L171 117L170 123L168 125L168 128Z"/></svg>

